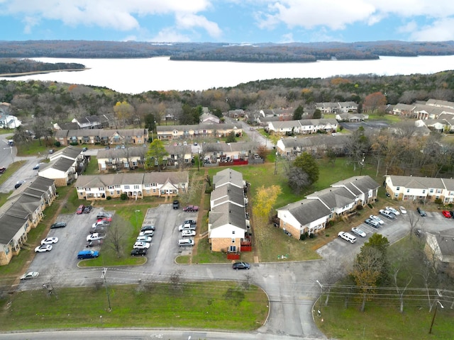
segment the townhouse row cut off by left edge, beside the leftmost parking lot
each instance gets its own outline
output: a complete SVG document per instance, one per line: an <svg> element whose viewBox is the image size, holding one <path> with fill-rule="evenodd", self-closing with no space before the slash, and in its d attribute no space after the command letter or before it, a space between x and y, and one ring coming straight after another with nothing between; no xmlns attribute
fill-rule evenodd
<svg viewBox="0 0 454 340"><path fill-rule="evenodd" d="M39 177L23 183L0 207L0 266L27 246L28 232L45 217L44 210L57 197L52 179Z"/></svg>

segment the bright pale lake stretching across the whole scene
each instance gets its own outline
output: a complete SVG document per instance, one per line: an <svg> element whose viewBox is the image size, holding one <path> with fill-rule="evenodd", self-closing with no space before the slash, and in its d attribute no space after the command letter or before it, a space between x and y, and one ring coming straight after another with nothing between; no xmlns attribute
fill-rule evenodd
<svg viewBox="0 0 454 340"><path fill-rule="evenodd" d="M145 59L33 58L42 62L77 62L89 69L0 79L59 81L105 86L125 93L206 90L248 81L277 78L326 78L348 74L433 74L454 67L454 56L380 57L380 60L320 61L308 63L193 62L168 57Z"/></svg>

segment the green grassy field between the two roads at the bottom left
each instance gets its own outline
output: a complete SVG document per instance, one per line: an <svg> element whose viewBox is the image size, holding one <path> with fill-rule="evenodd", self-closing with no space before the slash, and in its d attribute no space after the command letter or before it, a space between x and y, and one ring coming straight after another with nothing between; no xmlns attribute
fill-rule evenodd
<svg viewBox="0 0 454 340"><path fill-rule="evenodd" d="M185 327L250 331L267 317L268 300L254 285L203 282L59 288L16 293L2 302L1 331L84 327Z"/></svg>

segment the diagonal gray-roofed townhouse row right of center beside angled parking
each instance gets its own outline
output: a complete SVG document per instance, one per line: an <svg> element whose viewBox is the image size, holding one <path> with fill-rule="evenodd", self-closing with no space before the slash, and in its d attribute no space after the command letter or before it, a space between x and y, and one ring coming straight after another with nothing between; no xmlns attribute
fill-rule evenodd
<svg viewBox="0 0 454 340"><path fill-rule="evenodd" d="M300 239L320 232L328 222L348 217L358 206L375 202L380 185L370 176L355 176L277 209L279 227Z"/></svg>

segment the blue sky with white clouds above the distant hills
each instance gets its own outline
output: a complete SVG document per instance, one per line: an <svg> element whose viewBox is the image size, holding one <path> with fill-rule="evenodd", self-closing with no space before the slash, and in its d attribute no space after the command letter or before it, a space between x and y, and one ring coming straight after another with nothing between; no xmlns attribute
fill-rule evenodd
<svg viewBox="0 0 454 340"><path fill-rule="evenodd" d="M454 40L453 0L0 0L0 40Z"/></svg>

